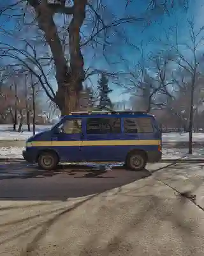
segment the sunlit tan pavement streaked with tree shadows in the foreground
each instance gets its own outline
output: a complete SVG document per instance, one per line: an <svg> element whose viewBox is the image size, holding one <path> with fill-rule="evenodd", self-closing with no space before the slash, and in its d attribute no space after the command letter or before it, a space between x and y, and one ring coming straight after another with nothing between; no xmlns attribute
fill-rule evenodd
<svg viewBox="0 0 204 256"><path fill-rule="evenodd" d="M203 256L204 172L194 164L182 166L66 202L2 201L0 251L13 256ZM200 207L180 195L189 190Z"/></svg>

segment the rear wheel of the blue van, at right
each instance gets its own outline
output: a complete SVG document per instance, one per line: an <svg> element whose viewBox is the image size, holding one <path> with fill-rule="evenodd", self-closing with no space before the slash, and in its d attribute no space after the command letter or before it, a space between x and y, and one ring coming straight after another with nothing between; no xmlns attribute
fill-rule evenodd
<svg viewBox="0 0 204 256"><path fill-rule="evenodd" d="M147 156L143 152L131 152L128 154L126 166L133 171L140 171L145 168L147 164Z"/></svg>

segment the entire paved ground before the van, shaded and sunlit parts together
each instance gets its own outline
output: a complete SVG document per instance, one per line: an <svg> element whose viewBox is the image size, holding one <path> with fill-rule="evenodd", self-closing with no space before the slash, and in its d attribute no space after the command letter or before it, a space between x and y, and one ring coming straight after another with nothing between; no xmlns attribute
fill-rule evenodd
<svg viewBox="0 0 204 256"><path fill-rule="evenodd" d="M33 167L6 166L1 165L0 255L204 255L201 164L171 165L145 179L140 177L147 171L119 169L90 177L88 170L59 170L52 175L36 170L31 175ZM98 193L70 198L71 191L77 196L82 188L87 194ZM189 190L197 195L199 207L177 192ZM47 191L55 198L48 200ZM42 194L45 200L34 197Z"/></svg>

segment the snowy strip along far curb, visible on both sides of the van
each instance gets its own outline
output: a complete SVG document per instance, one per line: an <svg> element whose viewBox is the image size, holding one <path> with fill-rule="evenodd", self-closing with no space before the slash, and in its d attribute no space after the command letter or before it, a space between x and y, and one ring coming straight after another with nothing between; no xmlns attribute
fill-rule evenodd
<svg viewBox="0 0 204 256"><path fill-rule="evenodd" d="M22 147L0 147L0 159L23 159L22 150L24 150L24 148ZM187 148L163 148L163 159L178 159L179 157L187 157L191 159L204 159L204 148L193 149L193 155L187 154Z"/></svg>

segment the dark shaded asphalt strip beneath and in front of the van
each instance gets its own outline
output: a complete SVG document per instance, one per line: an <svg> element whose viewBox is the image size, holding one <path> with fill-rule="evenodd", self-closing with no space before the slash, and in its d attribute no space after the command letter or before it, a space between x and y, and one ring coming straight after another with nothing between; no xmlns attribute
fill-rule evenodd
<svg viewBox="0 0 204 256"><path fill-rule="evenodd" d="M158 164L158 168L161 164ZM27 163L0 164L0 200L67 200L102 193L149 176L118 166L108 171L69 166L54 172Z"/></svg>

